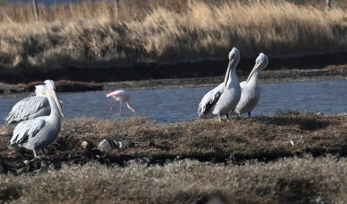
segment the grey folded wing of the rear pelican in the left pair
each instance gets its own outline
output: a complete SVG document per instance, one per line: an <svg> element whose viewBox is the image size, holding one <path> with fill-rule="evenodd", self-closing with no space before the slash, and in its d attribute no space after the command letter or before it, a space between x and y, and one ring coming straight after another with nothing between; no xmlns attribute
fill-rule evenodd
<svg viewBox="0 0 347 204"><path fill-rule="evenodd" d="M5 124L18 123L50 114L51 106L46 97L29 97L17 102L12 107L11 112L5 117Z"/></svg>

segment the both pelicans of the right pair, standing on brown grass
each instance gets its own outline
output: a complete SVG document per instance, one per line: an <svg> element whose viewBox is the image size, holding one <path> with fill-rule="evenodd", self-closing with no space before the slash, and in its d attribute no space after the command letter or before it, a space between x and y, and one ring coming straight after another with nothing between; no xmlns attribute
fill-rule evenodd
<svg viewBox="0 0 347 204"><path fill-rule="evenodd" d="M198 105L200 118L218 116L218 121L221 122L221 115L226 115L227 120L230 120L230 114L241 116L242 113L248 112L248 117L251 116L251 111L258 104L262 91L258 76L268 65L269 59L260 53L247 81L241 83L235 73L239 60L240 52L233 48L229 53L229 66L224 83L208 92Z"/></svg>

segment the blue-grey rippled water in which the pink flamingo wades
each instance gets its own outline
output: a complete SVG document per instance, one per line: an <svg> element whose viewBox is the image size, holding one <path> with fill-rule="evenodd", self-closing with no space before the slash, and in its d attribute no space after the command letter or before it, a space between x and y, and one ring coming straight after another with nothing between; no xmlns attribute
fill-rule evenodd
<svg viewBox="0 0 347 204"><path fill-rule="evenodd" d="M157 123L172 123L196 119L197 105L202 97L214 87L182 88L165 90L130 91L130 103L133 113L123 104L119 114L120 102L106 98L106 92L78 93L59 95L66 117L78 115L97 115L109 118L126 119L131 115L145 114ZM258 105L252 111L255 114L271 115L278 110L311 110L323 113L341 113L347 110L347 80L292 82L262 84L262 95ZM0 99L0 118L4 118L14 103L22 98ZM244 114L247 116L247 114ZM0 120L0 124L4 121Z"/></svg>

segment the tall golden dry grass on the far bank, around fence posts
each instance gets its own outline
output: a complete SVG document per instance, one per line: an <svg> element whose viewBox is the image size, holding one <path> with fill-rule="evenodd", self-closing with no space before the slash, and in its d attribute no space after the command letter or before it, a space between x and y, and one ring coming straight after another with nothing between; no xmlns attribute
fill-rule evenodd
<svg viewBox="0 0 347 204"><path fill-rule="evenodd" d="M196 0L189 8L184 0L120 2L117 19L108 0L40 5L40 22L31 4L0 7L0 67L26 72L227 59L232 47L242 57L347 49L340 1L329 12L314 0Z"/></svg>

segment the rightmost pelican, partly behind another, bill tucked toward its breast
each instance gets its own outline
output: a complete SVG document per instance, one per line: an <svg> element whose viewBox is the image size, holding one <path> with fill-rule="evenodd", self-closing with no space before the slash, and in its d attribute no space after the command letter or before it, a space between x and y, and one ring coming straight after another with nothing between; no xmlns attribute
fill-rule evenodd
<svg viewBox="0 0 347 204"><path fill-rule="evenodd" d="M260 53L255 60L255 65L248 76L247 81L240 83L241 86L241 99L236 105L236 108L231 112L232 115L248 112L248 117L251 117L251 111L258 104L260 100L261 88L258 80L259 73L268 65L268 57Z"/></svg>

